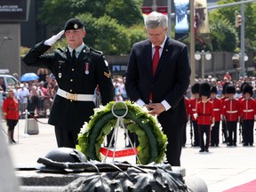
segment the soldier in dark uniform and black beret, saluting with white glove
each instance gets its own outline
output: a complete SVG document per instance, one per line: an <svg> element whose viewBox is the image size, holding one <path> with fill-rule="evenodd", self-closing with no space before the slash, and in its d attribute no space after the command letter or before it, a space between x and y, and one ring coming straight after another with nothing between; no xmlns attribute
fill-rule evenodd
<svg viewBox="0 0 256 192"><path fill-rule="evenodd" d="M45 53L65 33L68 46ZM58 147L76 148L77 134L93 115L94 91L99 85L103 105L114 99L108 62L102 52L84 44L84 23L72 18L56 36L36 44L24 57L28 66L49 68L59 89L54 99L49 124L55 126Z"/></svg>

